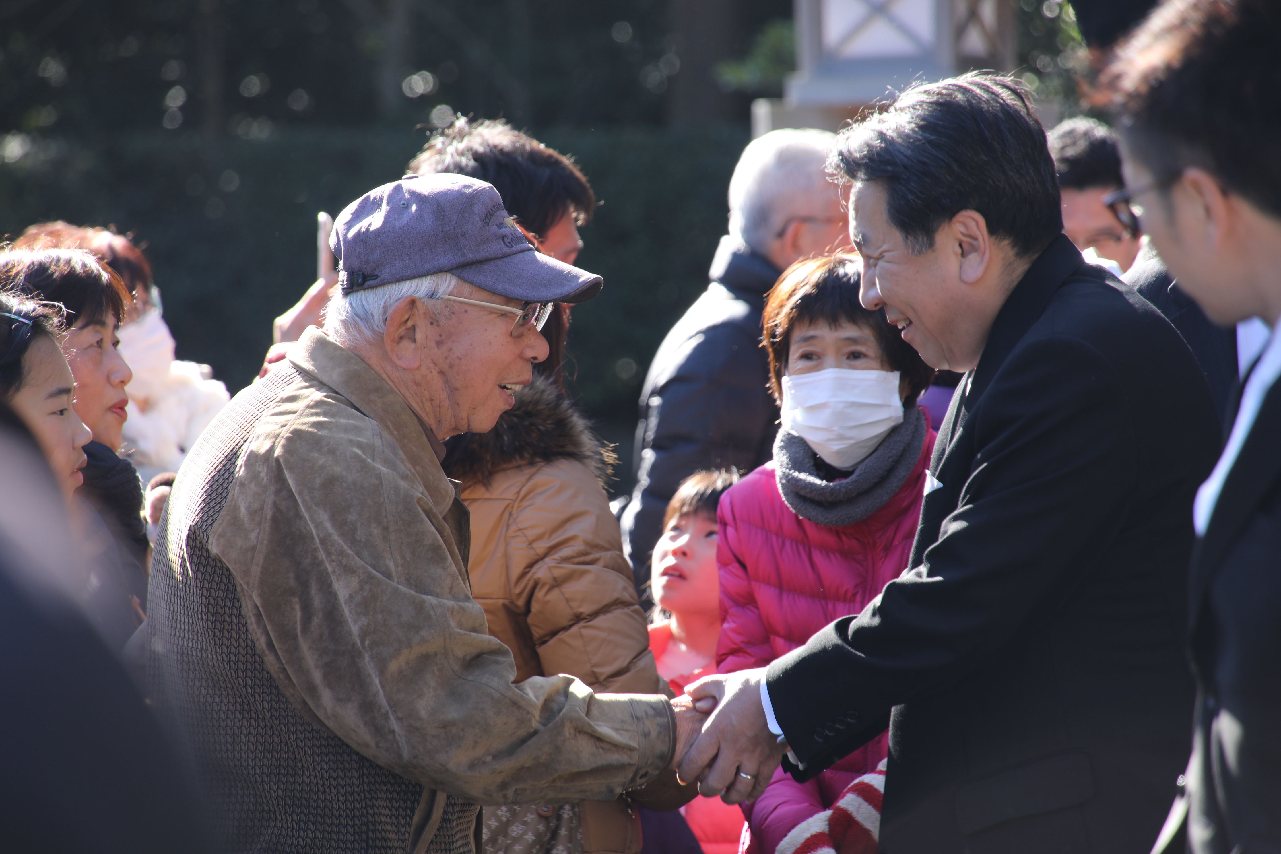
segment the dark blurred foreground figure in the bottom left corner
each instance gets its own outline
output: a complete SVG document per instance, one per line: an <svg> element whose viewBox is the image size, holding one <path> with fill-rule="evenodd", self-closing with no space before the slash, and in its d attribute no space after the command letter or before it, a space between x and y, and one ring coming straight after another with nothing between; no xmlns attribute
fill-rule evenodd
<svg viewBox="0 0 1281 854"><path fill-rule="evenodd" d="M0 848L202 853L159 727L73 602L81 560L40 448L0 403Z"/></svg>

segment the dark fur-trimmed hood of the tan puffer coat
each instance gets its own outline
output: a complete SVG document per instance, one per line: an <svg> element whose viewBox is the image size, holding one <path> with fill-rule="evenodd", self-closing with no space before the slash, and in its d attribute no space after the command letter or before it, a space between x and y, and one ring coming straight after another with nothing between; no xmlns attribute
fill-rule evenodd
<svg viewBox="0 0 1281 854"><path fill-rule="evenodd" d="M468 433L446 443L445 471L462 483L488 483L501 469L530 462L579 460L601 485L610 480L617 456L551 380L516 393L516 405L488 433Z"/></svg>

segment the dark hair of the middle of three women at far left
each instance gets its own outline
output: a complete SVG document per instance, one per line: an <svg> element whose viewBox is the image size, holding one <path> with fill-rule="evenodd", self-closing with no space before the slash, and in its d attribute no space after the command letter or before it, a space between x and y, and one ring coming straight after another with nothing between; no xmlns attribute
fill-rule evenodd
<svg viewBox="0 0 1281 854"><path fill-rule="evenodd" d="M9 250L0 252L0 288L41 302L56 302L68 326L115 323L133 297L115 270L86 250Z"/></svg>

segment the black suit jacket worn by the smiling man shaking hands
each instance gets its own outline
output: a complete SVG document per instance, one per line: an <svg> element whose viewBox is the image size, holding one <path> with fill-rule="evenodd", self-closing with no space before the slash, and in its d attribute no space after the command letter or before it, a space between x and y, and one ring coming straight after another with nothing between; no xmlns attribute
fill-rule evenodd
<svg viewBox="0 0 1281 854"><path fill-rule="evenodd" d="M890 722L881 851L1146 854L1191 726L1205 379L1059 237L965 382L910 568L769 667L774 711L803 777Z"/></svg>

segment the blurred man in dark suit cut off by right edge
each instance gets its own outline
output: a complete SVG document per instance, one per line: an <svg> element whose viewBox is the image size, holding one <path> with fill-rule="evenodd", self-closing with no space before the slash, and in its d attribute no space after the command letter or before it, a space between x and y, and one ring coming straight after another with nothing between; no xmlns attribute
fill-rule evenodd
<svg viewBox="0 0 1281 854"><path fill-rule="evenodd" d="M1281 8L1180 0L1153 13L1106 70L1129 197L1180 287L1217 324L1281 318ZM1227 446L1196 494L1186 798L1162 845L1281 850L1281 338L1232 407ZM1186 819L1182 813L1186 810Z"/></svg>

